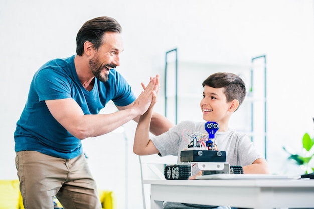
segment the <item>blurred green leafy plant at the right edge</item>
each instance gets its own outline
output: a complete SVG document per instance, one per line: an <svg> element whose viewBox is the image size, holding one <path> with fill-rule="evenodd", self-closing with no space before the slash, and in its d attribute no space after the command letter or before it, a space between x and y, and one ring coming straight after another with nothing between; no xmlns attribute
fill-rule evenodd
<svg viewBox="0 0 314 209"><path fill-rule="evenodd" d="M303 135L303 150L302 154L296 154L292 153L289 149L286 147L283 147L283 149L290 154L288 157L289 160L292 160L297 165L301 166L303 170L305 170L305 174L314 172L314 166L311 164L314 163L314 138L311 138L308 133L305 133Z"/></svg>

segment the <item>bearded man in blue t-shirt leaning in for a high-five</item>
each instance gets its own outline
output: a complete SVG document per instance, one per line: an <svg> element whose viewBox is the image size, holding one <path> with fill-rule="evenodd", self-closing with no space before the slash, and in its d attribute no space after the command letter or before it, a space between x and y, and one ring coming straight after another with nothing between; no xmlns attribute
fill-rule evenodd
<svg viewBox="0 0 314 209"><path fill-rule="evenodd" d="M123 51L121 26L98 17L79 30L76 54L44 64L34 75L15 131L16 167L24 207L53 208L53 197L65 209L101 208L96 183L81 140L138 121L158 90L151 78L136 99L115 67ZM112 100L118 112L98 114ZM151 132L159 135L172 124L154 113Z"/></svg>

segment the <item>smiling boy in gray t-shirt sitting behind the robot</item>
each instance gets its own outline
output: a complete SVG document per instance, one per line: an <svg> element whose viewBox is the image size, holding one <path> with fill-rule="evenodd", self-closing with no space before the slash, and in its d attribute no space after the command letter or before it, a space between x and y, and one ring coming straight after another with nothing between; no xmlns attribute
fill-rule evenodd
<svg viewBox="0 0 314 209"><path fill-rule="evenodd" d="M256 151L253 143L243 133L229 129L228 122L233 112L242 104L246 95L243 80L233 73L214 73L203 82L203 99L200 102L203 119L218 123L219 130L215 134L214 143L218 150L226 151L226 162L243 167L244 173L269 174L268 163ZM138 122L133 151L138 155L159 154L161 156L178 156L180 163L180 151L188 147L193 134L207 134L204 128L205 122L182 121L159 136L149 137L150 118L153 105L156 103L156 93L150 108L143 114ZM192 167L192 177L201 175L197 166ZM206 205L191 205L183 203L167 202L166 208L213 208ZM216 208L216 207L214 207ZM219 207L223 208L223 207Z"/></svg>

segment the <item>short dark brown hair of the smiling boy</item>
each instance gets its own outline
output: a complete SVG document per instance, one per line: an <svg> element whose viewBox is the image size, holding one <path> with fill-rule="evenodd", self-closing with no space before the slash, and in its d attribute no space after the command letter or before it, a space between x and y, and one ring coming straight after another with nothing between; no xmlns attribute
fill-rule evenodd
<svg viewBox="0 0 314 209"><path fill-rule="evenodd" d="M242 104L246 95L244 81L233 73L214 73L207 77L202 85L203 87L207 85L212 88L224 88L227 102L237 99L239 106Z"/></svg>

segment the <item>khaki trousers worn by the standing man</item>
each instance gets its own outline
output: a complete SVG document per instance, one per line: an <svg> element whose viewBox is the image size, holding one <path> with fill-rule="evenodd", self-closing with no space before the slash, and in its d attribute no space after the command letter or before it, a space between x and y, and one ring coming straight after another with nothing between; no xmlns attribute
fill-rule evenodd
<svg viewBox="0 0 314 209"><path fill-rule="evenodd" d="M52 209L54 196L64 209L101 209L96 182L83 154L61 159L20 151L15 163L25 209Z"/></svg>

